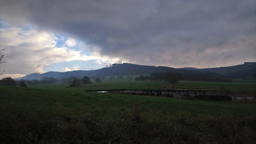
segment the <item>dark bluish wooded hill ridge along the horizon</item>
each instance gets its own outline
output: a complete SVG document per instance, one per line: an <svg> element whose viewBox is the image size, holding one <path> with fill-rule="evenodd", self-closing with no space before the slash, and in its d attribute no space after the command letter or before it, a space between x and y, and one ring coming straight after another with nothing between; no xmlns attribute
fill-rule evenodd
<svg viewBox="0 0 256 144"><path fill-rule="evenodd" d="M178 72L185 75L191 73L196 75L212 75L214 77L246 77L251 76L256 72L256 64L243 64L235 65L230 67L216 67L216 68L205 68L198 69L195 67L184 67L184 68L172 68L164 66L148 66L148 65L136 65L131 63L112 64L102 69L90 70L90 71L67 71L67 72L56 72L49 71L46 73L32 73L26 75L21 79L41 79L42 77L54 77L56 79L62 79L64 77L102 77L102 76L113 76L113 75L134 75L134 74L150 74L156 72L172 71Z"/></svg>

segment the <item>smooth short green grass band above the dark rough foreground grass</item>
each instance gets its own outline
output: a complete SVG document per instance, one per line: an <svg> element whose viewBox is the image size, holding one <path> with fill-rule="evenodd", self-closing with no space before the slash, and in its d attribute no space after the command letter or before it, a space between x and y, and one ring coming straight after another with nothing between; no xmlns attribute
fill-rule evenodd
<svg viewBox="0 0 256 144"><path fill-rule="evenodd" d="M166 120L177 114L200 118L220 114L250 116L256 113L256 105L76 91L79 88L65 89L67 91L1 87L0 104L3 108L13 110L30 108L40 114L77 118L127 118L130 107L137 102L142 104L142 118L146 120Z"/></svg>

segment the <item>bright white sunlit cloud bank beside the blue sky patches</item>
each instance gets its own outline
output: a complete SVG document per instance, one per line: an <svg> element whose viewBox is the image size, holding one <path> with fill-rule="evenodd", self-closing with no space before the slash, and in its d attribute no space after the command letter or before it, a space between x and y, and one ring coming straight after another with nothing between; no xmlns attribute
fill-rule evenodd
<svg viewBox="0 0 256 144"><path fill-rule="evenodd" d="M98 53L84 55L68 47L57 47L58 39L47 32L34 29L0 28L0 43L6 48L0 51L6 63L1 63L1 69L7 74L44 73L44 67L63 61L102 60L113 63L116 59L102 57ZM80 47L84 45L80 44ZM106 61L106 62L108 62ZM77 66L73 69L78 69Z"/></svg>

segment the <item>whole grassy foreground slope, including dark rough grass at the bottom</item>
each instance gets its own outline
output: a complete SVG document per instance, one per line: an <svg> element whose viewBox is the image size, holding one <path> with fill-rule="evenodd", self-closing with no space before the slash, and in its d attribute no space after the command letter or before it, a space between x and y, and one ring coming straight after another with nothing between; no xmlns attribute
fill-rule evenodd
<svg viewBox="0 0 256 144"><path fill-rule="evenodd" d="M0 94L3 143L256 142L255 105L20 87Z"/></svg>

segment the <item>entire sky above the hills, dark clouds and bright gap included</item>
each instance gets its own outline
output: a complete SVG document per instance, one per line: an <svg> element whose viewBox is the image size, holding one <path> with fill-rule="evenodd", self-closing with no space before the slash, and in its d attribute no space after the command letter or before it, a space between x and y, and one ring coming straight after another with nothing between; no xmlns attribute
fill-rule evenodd
<svg viewBox="0 0 256 144"><path fill-rule="evenodd" d="M255 0L0 0L2 77L256 61Z"/></svg>

